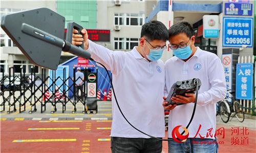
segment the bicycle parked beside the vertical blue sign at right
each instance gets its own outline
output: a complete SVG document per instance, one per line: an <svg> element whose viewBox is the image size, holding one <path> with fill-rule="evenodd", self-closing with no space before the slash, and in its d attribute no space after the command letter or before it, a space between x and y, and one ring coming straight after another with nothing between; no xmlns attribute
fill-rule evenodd
<svg viewBox="0 0 256 153"><path fill-rule="evenodd" d="M231 92L230 90L228 90L227 92L230 93L229 95L232 95L234 93L234 92ZM217 103L216 116L220 114L221 120L224 123L231 121L231 119L234 116L237 117L238 121L243 122L244 121L244 111L243 111L241 104L237 100L234 100L233 102L229 102L228 101L229 98L232 99L232 96L226 97L225 99L223 99L222 101L219 101Z"/></svg>

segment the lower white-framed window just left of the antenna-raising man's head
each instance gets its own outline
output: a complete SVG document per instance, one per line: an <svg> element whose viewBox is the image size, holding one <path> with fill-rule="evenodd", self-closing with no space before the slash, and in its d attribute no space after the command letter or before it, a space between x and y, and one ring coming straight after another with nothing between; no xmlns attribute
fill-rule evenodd
<svg viewBox="0 0 256 153"><path fill-rule="evenodd" d="M114 38L115 50L132 50L139 45L139 38Z"/></svg>

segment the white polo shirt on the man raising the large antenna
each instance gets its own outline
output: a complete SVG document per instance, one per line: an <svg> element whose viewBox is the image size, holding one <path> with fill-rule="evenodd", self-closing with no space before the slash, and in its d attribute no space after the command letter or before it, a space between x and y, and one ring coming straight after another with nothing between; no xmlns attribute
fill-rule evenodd
<svg viewBox="0 0 256 153"><path fill-rule="evenodd" d="M164 63L149 62L136 50L111 51L89 40L91 57L110 70L120 108L136 128L154 137L164 137ZM112 98L112 137L150 138L129 125Z"/></svg>

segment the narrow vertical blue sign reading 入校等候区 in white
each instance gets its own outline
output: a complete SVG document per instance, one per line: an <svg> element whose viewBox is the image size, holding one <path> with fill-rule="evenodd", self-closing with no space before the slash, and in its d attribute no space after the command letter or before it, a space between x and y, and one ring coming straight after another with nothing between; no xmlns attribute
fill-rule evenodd
<svg viewBox="0 0 256 153"><path fill-rule="evenodd" d="M236 99L252 100L253 64L238 63L236 74Z"/></svg>

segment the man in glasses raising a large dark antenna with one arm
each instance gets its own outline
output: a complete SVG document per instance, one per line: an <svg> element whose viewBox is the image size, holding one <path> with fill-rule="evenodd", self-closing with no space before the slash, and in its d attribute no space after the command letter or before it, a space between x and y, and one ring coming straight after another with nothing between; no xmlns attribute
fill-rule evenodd
<svg viewBox="0 0 256 153"><path fill-rule="evenodd" d="M77 33L74 30L74 33ZM130 52L111 51L88 39L86 30L73 35L73 44L81 45L91 57L113 74L113 87L120 108L136 128L154 137L164 137L164 63L160 60L166 49L168 30L160 21L142 26L139 45ZM161 152L162 141L150 138L129 125L113 98L111 128L112 152Z"/></svg>

